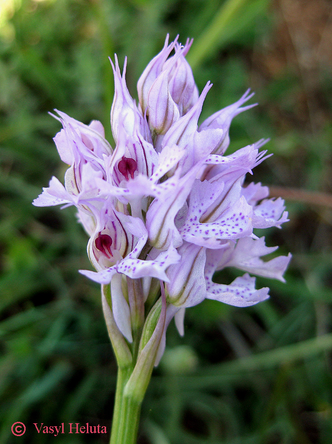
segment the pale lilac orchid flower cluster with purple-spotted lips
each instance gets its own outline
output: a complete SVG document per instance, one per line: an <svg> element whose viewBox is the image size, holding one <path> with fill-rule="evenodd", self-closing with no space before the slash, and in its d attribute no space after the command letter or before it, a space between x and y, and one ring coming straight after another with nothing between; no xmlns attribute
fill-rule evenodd
<svg viewBox="0 0 332 444"><path fill-rule="evenodd" d="M256 289L250 274L283 280L290 260L262 260L277 247L266 247L254 233L288 220L281 198L269 199L259 183L244 183L268 157L259 151L266 141L225 155L231 121L254 106L244 106L253 94L247 91L198 126L212 84L199 95L185 60L190 45L166 38L138 81L138 105L126 86L126 61L121 74L115 56L114 148L99 121L84 125L56 111L63 129L54 141L69 165L65 186L53 177L34 201L77 208L96 270L80 272L103 285L105 316L128 344L141 328L143 350L153 339L151 333L144 337L146 326L153 332L161 323L159 357L173 317L183 334L185 308L205 298L256 304L268 297L268 288ZM213 282L225 267L245 273L229 284Z"/></svg>

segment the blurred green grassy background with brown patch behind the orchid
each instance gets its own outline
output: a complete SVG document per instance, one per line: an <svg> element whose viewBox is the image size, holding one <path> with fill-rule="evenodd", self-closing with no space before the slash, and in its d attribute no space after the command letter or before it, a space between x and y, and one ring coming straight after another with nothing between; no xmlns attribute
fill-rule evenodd
<svg viewBox="0 0 332 444"><path fill-rule="evenodd" d="M8 6L9 5L9 6ZM73 209L31 205L63 177L52 137L57 108L111 140L109 56L128 56L134 96L165 35L194 37L203 117L251 87L259 106L231 127L235 150L261 137L275 155L254 180L312 191L287 202L291 221L268 245L294 258L287 283L259 279L269 301L237 309L205 301L173 325L143 406L140 444L329 444L332 436L331 4L325 0L22 0L0 19L0 443L25 422L25 443L48 443L33 423L110 430L116 367L86 235ZM300 9L298 9L300 8ZM233 270L218 277L232 280ZM184 344L186 345L183 348ZM180 348L179 348L180 347ZM18 440L19 438L17 438ZM22 438L23 440L23 438ZM15 441L16 442L16 441ZM23 442L23 441L22 441ZM62 435L63 443L107 443Z"/></svg>

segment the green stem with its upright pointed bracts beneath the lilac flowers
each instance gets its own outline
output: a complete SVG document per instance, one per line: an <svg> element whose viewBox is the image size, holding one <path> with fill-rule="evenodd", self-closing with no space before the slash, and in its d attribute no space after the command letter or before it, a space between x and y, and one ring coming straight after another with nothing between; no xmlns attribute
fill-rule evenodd
<svg viewBox="0 0 332 444"><path fill-rule="evenodd" d="M114 333L111 328L113 318L107 301L107 297L110 299L108 290L108 287L103 287L103 308L107 324L110 325L109 331ZM141 325L143 311L141 313L139 303L137 303L138 295L135 293L138 289L128 286L128 290L130 308L133 313L137 314L132 326L133 342L130 345L132 360L117 359L118 373L110 444L136 444L141 404L165 327L165 293L162 293L161 298L151 309L143 327ZM110 334L110 337L114 339L114 334ZM116 351L116 339L113 345ZM123 343L120 343L120 348L123 349Z"/></svg>

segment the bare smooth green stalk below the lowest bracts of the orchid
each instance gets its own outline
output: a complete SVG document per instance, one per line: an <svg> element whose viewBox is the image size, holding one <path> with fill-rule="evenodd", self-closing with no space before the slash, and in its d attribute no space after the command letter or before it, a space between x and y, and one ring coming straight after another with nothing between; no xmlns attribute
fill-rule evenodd
<svg viewBox="0 0 332 444"><path fill-rule="evenodd" d="M124 388L132 373L131 367L119 367L110 444L136 444L141 403L124 396Z"/></svg>

